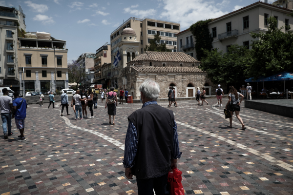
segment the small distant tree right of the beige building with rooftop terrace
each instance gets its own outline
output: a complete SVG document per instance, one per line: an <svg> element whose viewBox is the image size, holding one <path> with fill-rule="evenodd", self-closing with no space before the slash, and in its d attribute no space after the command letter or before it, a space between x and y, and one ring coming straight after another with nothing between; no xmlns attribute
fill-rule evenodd
<svg viewBox="0 0 293 195"><path fill-rule="evenodd" d="M76 60L72 60L71 63L68 63L68 82L76 82L76 87L82 82L82 79L85 78L84 68L80 66L80 63Z"/></svg>

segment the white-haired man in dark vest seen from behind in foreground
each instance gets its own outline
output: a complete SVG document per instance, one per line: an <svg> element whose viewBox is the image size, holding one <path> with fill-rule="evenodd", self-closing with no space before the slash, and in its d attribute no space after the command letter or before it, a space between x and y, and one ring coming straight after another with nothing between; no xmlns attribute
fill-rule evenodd
<svg viewBox="0 0 293 195"><path fill-rule="evenodd" d="M160 86L146 79L139 88L143 107L128 117L124 167L136 176L139 195L165 195L170 169L177 167L179 149L173 112L157 104Z"/></svg>

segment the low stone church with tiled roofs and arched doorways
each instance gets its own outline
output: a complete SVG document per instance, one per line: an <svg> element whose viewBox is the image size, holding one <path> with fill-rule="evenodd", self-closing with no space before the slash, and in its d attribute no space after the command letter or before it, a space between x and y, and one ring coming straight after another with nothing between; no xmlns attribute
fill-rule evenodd
<svg viewBox="0 0 293 195"><path fill-rule="evenodd" d="M217 86L207 78L207 73L198 69L199 61L180 52L145 52L127 62L122 71L126 76L126 88L134 99L140 98L139 87L150 78L159 83L159 98L167 98L168 87L175 88L176 98L196 97L196 88L206 87L207 95L214 95Z"/></svg>

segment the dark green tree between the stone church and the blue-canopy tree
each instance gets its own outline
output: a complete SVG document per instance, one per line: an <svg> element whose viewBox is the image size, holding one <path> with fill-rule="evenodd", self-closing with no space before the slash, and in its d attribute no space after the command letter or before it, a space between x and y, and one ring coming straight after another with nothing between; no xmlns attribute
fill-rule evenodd
<svg viewBox="0 0 293 195"><path fill-rule="evenodd" d="M250 51L244 46L231 45L228 52L207 49L203 50L205 58L199 68L208 73L213 83L233 83L238 85L244 82L247 75Z"/></svg>

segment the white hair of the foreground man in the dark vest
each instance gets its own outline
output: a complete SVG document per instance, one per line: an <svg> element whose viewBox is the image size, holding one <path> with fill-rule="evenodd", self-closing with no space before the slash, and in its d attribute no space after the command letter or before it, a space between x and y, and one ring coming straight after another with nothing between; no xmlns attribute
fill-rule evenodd
<svg viewBox="0 0 293 195"><path fill-rule="evenodd" d="M157 82L146 79L139 87L139 91L142 92L146 98L157 100L159 98L160 86Z"/></svg>

